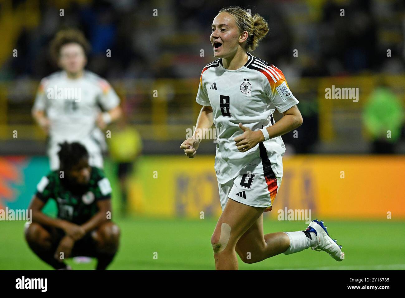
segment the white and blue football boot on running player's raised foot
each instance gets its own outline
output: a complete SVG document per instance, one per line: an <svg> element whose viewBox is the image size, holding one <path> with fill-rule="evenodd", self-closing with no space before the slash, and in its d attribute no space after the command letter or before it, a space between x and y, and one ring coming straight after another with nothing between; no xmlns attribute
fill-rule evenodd
<svg viewBox="0 0 405 298"><path fill-rule="evenodd" d="M336 239L332 240L332 238L330 238L323 221L317 221L314 219L305 231L313 232L316 235L317 245L311 247L313 251L326 251L331 257L339 262L345 259L345 253L341 250L342 246L336 243Z"/></svg>

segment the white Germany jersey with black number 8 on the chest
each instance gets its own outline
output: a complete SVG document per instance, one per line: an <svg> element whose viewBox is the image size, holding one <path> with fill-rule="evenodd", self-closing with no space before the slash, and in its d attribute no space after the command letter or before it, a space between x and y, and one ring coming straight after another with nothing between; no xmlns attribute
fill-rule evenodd
<svg viewBox="0 0 405 298"><path fill-rule="evenodd" d="M274 124L276 108L283 113L298 103L281 70L248 56L246 64L236 70L225 69L222 59L217 59L204 67L200 77L196 101L213 109L218 131L215 172L222 184L246 173L283 176L286 147L281 136L260 142L247 152L239 152L234 139L243 134L240 122L257 131Z"/></svg>

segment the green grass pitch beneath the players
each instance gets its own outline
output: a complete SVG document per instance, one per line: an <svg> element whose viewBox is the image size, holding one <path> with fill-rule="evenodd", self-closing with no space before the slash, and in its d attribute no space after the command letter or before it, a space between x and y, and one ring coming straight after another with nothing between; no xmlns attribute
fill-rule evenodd
<svg viewBox="0 0 405 298"><path fill-rule="evenodd" d="M212 270L211 235L216 219L129 217L115 221L121 228L120 249L109 270ZM241 270L404 270L405 224L401 221L327 221L328 232L343 245L345 259L337 262L327 253L305 251L277 255ZM264 219L264 232L299 231L304 221ZM23 238L24 223L0 221L0 270L49 270ZM153 256L157 253L157 259ZM87 264L67 263L74 270L90 270Z"/></svg>

